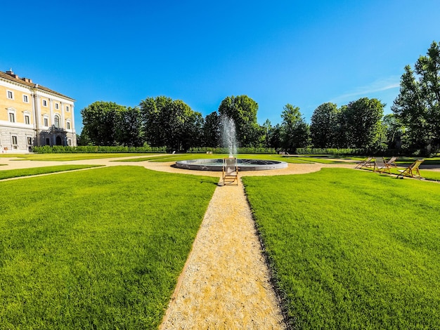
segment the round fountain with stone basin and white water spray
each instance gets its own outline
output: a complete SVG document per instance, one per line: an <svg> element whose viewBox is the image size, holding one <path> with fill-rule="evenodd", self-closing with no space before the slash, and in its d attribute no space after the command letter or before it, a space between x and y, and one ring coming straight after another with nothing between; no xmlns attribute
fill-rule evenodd
<svg viewBox="0 0 440 330"><path fill-rule="evenodd" d="M228 148L229 157L236 157L237 142L235 138L235 123L232 118L221 117L222 142ZM261 171L285 169L285 161L263 160L263 159L237 159L238 171ZM221 171L223 159L191 159L176 161L179 169L190 169L198 171Z"/></svg>

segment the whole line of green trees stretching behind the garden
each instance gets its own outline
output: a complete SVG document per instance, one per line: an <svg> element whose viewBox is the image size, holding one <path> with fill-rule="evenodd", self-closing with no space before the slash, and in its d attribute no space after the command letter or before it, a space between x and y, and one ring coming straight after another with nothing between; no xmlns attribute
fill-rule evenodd
<svg viewBox="0 0 440 330"><path fill-rule="evenodd" d="M417 75L417 76L415 76ZM440 48L435 41L401 77L392 114L384 103L359 98L338 107L323 103L306 123L299 107L288 103L273 126L257 123L258 104L247 95L228 96L205 118L182 100L148 97L137 107L95 102L81 110L83 130L79 145L221 147L221 117L235 122L238 146L266 147L296 152L299 147L399 149L436 152L440 144Z"/></svg>

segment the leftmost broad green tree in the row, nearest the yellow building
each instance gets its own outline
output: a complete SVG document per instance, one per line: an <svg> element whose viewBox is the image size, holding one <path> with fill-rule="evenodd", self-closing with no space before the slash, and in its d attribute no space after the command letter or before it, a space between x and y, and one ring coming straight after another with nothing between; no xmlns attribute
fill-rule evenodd
<svg viewBox="0 0 440 330"><path fill-rule="evenodd" d="M113 102L98 101L81 110L83 132L93 145L116 145L119 112L126 107Z"/></svg>

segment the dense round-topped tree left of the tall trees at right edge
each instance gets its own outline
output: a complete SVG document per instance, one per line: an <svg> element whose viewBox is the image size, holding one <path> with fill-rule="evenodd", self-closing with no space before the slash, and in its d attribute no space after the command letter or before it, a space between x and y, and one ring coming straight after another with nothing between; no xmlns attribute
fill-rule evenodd
<svg viewBox="0 0 440 330"><path fill-rule="evenodd" d="M360 98L342 110L349 147L374 147L380 141L384 106L376 98Z"/></svg>

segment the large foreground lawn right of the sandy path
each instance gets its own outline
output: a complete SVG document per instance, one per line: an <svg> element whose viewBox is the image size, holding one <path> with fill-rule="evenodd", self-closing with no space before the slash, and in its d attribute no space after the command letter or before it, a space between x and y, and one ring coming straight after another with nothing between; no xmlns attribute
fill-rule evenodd
<svg viewBox="0 0 440 330"><path fill-rule="evenodd" d="M293 329L438 328L438 183L351 169L242 180Z"/></svg>

